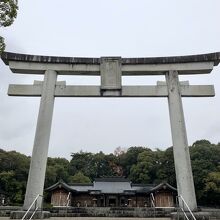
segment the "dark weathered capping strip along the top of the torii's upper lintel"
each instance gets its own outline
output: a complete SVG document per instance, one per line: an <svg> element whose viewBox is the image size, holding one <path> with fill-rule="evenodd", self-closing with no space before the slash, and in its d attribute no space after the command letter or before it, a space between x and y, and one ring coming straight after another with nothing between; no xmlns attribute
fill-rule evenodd
<svg viewBox="0 0 220 220"><path fill-rule="evenodd" d="M8 65L9 61L55 64L100 64L102 58L41 56L3 52L1 54L1 59ZM170 64L192 62L214 62L214 65L218 65L220 62L220 52L188 56L121 58L122 64Z"/></svg>

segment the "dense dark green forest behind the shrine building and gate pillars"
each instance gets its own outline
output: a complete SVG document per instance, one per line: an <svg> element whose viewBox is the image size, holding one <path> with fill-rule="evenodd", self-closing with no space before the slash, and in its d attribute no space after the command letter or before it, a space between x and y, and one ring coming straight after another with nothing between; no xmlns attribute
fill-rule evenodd
<svg viewBox="0 0 220 220"><path fill-rule="evenodd" d="M192 169L198 203L220 206L220 143L196 141L190 146ZM152 151L147 147L117 148L112 154L78 152L65 158L48 158L45 187L58 180L91 182L103 176L125 176L134 183L160 183L176 186L173 150ZM30 157L0 149L0 190L11 204L24 199Z"/></svg>

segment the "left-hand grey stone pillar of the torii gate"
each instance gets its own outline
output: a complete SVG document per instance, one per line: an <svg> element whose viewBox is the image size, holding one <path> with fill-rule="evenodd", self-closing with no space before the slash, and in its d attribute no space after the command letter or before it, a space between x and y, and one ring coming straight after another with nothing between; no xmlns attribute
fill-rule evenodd
<svg viewBox="0 0 220 220"><path fill-rule="evenodd" d="M44 191L56 81L56 71L46 70L42 83L42 95L23 206L24 210L30 207L30 204L38 194L43 195ZM37 200L37 205L41 207L42 197Z"/></svg>

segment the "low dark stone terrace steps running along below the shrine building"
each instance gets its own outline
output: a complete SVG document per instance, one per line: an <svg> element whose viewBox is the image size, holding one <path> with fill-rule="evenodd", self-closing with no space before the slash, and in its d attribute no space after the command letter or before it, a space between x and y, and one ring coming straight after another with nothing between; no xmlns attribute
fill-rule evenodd
<svg viewBox="0 0 220 220"><path fill-rule="evenodd" d="M9 219L12 211L19 211L21 207L0 207L0 220ZM51 220L110 220L110 219L126 219L135 220L139 218L147 218L147 220L171 220L173 219L173 209L166 208L144 208L144 207L55 207L45 211L51 213ZM206 217L202 216L202 212L208 213ZM202 208L200 217L197 220L220 220L220 209Z"/></svg>

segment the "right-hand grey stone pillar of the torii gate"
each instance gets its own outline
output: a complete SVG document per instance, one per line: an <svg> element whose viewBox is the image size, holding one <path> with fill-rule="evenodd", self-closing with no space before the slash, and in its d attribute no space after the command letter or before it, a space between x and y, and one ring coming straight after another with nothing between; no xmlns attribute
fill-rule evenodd
<svg viewBox="0 0 220 220"><path fill-rule="evenodd" d="M187 205L195 211L197 203L178 72L169 71L166 74L166 82L178 195L184 195Z"/></svg>

